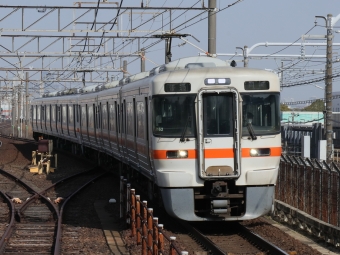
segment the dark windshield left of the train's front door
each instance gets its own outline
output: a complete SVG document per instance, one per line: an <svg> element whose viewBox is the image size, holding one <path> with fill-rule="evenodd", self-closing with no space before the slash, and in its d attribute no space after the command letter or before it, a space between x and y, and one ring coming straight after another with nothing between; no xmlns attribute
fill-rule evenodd
<svg viewBox="0 0 340 255"><path fill-rule="evenodd" d="M191 95L153 97L152 130L155 136L196 136L195 98Z"/></svg>

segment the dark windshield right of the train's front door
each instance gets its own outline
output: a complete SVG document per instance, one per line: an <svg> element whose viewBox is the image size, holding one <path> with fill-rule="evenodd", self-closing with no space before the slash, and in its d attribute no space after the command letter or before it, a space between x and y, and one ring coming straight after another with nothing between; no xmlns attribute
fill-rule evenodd
<svg viewBox="0 0 340 255"><path fill-rule="evenodd" d="M242 93L242 136L270 135L280 132L279 93Z"/></svg>

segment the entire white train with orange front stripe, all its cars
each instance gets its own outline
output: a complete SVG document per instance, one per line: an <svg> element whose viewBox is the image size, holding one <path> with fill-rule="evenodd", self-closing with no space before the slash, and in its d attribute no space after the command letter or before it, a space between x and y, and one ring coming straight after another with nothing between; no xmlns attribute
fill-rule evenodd
<svg viewBox="0 0 340 255"><path fill-rule="evenodd" d="M34 137L102 152L146 176L166 211L238 221L271 211L281 156L271 72L190 57L32 102Z"/></svg>

